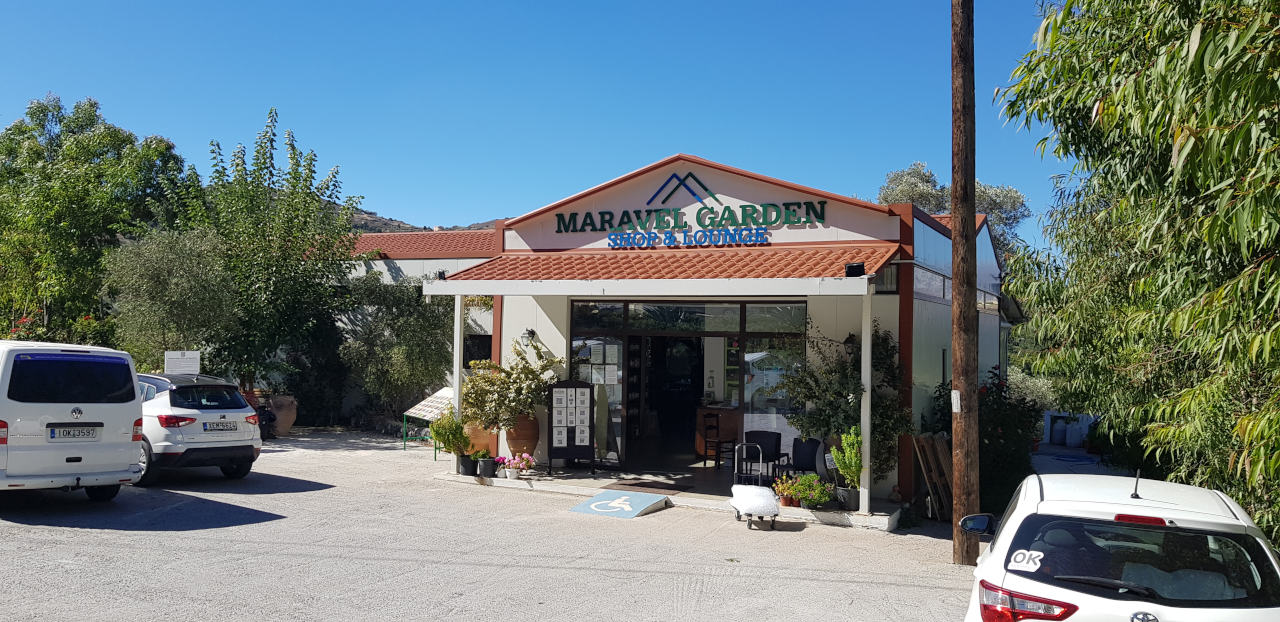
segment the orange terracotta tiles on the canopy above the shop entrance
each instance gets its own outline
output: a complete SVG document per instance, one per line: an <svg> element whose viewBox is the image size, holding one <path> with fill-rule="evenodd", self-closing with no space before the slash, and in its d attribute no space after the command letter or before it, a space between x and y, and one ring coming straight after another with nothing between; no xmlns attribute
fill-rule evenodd
<svg viewBox="0 0 1280 622"><path fill-rule="evenodd" d="M897 244L512 253L449 280L799 279L844 276L845 264L879 270Z"/></svg>

